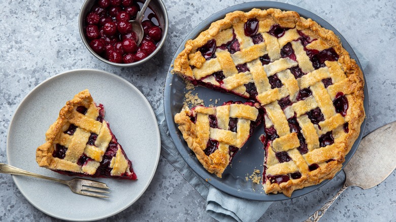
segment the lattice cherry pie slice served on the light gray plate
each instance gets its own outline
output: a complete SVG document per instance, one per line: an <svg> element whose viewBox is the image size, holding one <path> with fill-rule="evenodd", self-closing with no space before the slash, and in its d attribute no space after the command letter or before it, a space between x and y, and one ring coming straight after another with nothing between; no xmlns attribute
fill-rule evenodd
<svg viewBox="0 0 396 222"><path fill-rule="evenodd" d="M104 116L103 105L96 105L88 90L75 95L37 148L39 166L70 176L137 179Z"/></svg>

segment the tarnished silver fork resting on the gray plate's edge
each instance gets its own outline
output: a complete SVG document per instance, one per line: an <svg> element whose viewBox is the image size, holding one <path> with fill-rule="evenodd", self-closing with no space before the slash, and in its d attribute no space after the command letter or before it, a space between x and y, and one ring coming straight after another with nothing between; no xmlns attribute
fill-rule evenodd
<svg viewBox="0 0 396 222"><path fill-rule="evenodd" d="M57 178L52 178L52 177L32 173L32 172L29 172L26 170L22 170L22 169L13 167L13 166L5 164L5 163L0 163L0 173L22 175L22 176L32 176L32 177L37 177L37 178L41 178L41 179L53 180L56 182L66 184L67 186L69 186L70 190L72 190L76 194L81 194L81 195L86 195L86 196L91 196L91 197L109 198L104 195L92 194L92 193L88 193L86 191L110 194L110 192L107 192L107 191L89 188L89 187L93 187L93 188L110 189L109 187L106 186L106 183L97 182L97 181L93 181L90 179L82 179L82 178L74 178L72 180L57 179Z"/></svg>

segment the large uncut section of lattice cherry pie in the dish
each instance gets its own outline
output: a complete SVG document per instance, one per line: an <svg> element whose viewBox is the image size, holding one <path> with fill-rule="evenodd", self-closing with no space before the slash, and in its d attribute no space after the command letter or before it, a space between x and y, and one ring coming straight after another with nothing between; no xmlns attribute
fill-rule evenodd
<svg viewBox="0 0 396 222"><path fill-rule="evenodd" d="M227 14L186 42L172 73L260 103L266 193L333 178L365 118L356 62L333 31L293 11Z"/></svg>

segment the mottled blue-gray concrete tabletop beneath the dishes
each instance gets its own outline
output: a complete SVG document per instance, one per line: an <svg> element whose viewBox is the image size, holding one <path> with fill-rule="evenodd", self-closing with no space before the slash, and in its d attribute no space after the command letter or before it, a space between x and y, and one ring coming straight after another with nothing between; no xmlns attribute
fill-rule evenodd
<svg viewBox="0 0 396 222"><path fill-rule="evenodd" d="M214 12L244 1L164 2L170 25L162 50L140 67L117 68L100 62L83 46L77 24L82 1L0 1L0 162L7 162L7 130L15 108L42 81L74 68L102 69L134 84L156 109L162 99L169 63L189 30ZM396 4L357 0L295 2L331 23L370 61L365 70L370 95L365 134L395 121ZM368 165L374 170L381 163L368 160ZM340 173L304 197L276 202L260 221L302 221L329 200L341 188L343 180ZM395 183L393 172L370 190L349 188L321 221L394 221ZM161 157L144 195L134 205L104 221L212 221L205 206L206 201ZM32 206L10 175L0 175L0 221L34 220L58 221Z"/></svg>

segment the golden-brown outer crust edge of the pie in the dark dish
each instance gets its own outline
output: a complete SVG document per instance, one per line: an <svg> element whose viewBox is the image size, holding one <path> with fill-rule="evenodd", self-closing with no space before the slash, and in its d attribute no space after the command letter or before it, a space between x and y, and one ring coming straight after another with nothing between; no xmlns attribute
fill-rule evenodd
<svg viewBox="0 0 396 222"><path fill-rule="evenodd" d="M333 150L331 155L334 155L332 158L333 161L329 161L328 163L320 162L320 167L318 169L302 173L303 175L300 179L290 179L287 182L283 182L280 184L271 183L269 180L267 180L266 184L264 185L266 193L282 192L284 195L290 196L292 192L296 189L312 186L314 184L320 183L324 179L333 178L334 175L341 169L342 163L345 161L345 155L348 154L354 141L358 137L360 133L361 123L364 121L365 118L365 111L363 106L364 78L362 71L356 64L355 60L350 58L349 53L342 47L338 36L333 31L322 28L312 19L305 19L303 17L300 17L300 15L296 12L284 12L279 9L252 9L251 11L246 13L241 11L228 13L224 19L213 22L207 30L201 32L194 40L188 40L186 42L185 49L175 59L174 69L172 70L172 73L178 74L185 79L194 80L195 76L191 69L191 66L201 68L204 66L205 62L201 53L197 51L197 48L204 46L209 40L215 39L216 36L221 33L221 31L226 30L234 25L238 26L240 23L244 23L250 18L257 18L259 20L259 32L266 32L272 25L279 24L282 27L295 28L296 30L304 33L310 38L316 39L317 41L314 41L313 44L307 45L308 49L316 49L318 51L321 51L327 48L333 48L339 55L339 59L337 62L338 64L340 64L342 71L347 77L347 79L345 80L347 81L347 84L344 84L344 86L336 89L329 87L331 89L327 89L327 91L329 91L329 94L331 94L331 99L334 99L334 96L339 91L339 89L342 88L343 90L347 91L346 97L349 103L347 114L344 117L345 122L348 123L349 132L341 132L342 130L340 130L340 127L342 126L334 129L337 131L338 135L335 139L335 144L332 146ZM331 68L331 64L326 63L326 66ZM342 92L344 92L343 90ZM233 93L243 96L243 92ZM263 95L264 96L260 98L267 99L269 101L268 103L270 103L271 101L275 101L273 98L270 97L273 96L273 94ZM262 103L262 101L260 102ZM178 114L175 116L175 122L179 125L182 124L179 126L179 129L182 131L183 137L187 141L189 147L191 147L194 152L201 152L203 154L203 144L199 144L199 142L195 141L194 126L191 121L185 118L188 117ZM330 123L328 128L332 128L333 126L334 125ZM318 130L318 133L323 134L325 132ZM211 167L208 167L211 163L209 163L207 159L208 158L205 154L202 155L202 158L199 157L200 162L205 166L205 168L211 169ZM218 173L221 174L222 172L216 167L211 170L212 171L208 169L208 171L214 172L217 175Z"/></svg>

